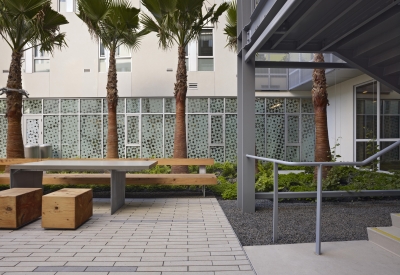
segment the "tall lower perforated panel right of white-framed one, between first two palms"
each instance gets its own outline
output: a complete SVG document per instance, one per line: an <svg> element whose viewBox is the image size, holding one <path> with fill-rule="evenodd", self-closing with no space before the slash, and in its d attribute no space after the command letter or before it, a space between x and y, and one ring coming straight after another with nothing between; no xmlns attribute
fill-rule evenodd
<svg viewBox="0 0 400 275"><path fill-rule="evenodd" d="M53 158L60 158L60 117L44 116L43 117L43 143L51 144L53 150Z"/></svg>

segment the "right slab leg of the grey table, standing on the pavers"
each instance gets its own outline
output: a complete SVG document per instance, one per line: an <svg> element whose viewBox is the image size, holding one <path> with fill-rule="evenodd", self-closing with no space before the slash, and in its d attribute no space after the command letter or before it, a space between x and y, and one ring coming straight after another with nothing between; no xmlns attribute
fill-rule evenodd
<svg viewBox="0 0 400 275"><path fill-rule="evenodd" d="M111 170L111 214L125 204L125 171Z"/></svg>

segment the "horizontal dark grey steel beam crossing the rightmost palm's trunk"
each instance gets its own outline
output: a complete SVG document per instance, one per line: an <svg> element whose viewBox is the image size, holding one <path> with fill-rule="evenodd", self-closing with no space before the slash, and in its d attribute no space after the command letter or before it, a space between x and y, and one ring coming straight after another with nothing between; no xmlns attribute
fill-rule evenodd
<svg viewBox="0 0 400 275"><path fill-rule="evenodd" d="M294 69L352 69L347 63L332 62L286 62L286 61L256 61L256 68L294 68Z"/></svg>

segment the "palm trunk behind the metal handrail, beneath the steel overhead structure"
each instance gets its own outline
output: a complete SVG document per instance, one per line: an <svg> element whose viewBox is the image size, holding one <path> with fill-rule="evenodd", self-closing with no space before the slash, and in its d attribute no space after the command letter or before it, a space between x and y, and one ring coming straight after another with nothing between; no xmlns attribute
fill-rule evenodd
<svg viewBox="0 0 400 275"><path fill-rule="evenodd" d="M322 53L314 54L314 62L324 62ZM313 72L312 101L315 113L315 161L331 161L331 150L329 146L328 121L326 107L329 105L328 92L326 88L325 69L314 69ZM322 171L322 178L326 178L328 168ZM314 178L317 177L317 168L314 170Z"/></svg>

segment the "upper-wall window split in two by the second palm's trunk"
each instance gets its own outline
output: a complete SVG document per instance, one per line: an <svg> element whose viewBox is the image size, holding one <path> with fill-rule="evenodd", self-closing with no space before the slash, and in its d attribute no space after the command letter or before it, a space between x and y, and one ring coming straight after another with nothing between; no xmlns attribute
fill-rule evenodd
<svg viewBox="0 0 400 275"><path fill-rule="evenodd" d="M103 44L99 46L99 72L105 73L108 70L109 51L104 48ZM115 62L117 72L131 72L131 53L130 50L121 45L115 51Z"/></svg>

